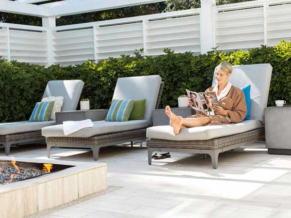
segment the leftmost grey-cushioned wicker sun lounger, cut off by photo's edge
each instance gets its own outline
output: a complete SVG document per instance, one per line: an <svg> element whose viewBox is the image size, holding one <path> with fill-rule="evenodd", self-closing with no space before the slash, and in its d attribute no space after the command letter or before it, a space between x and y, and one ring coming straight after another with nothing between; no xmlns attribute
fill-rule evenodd
<svg viewBox="0 0 291 218"><path fill-rule="evenodd" d="M81 80L58 80L49 81L43 97L63 96L64 103L62 111L75 110L84 86ZM36 103L36 102L35 102ZM25 142L44 141L41 135L41 128L55 125L55 121L44 122L11 122L0 124L0 144L5 147L5 154L10 154L10 147L13 144Z"/></svg>

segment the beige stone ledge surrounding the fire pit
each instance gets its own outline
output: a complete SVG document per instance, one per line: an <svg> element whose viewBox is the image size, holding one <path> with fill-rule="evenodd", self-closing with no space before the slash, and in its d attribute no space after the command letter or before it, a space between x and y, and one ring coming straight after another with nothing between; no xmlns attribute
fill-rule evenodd
<svg viewBox="0 0 291 218"><path fill-rule="evenodd" d="M0 156L0 167L3 160L11 161L13 158ZM16 164L33 162L73 167L0 185L0 214L5 218L29 216L108 188L107 164L32 158L15 160Z"/></svg>

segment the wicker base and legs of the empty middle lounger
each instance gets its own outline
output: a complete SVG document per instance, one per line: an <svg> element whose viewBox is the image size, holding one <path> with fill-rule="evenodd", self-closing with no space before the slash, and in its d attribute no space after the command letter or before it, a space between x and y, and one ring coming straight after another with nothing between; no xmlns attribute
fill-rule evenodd
<svg viewBox="0 0 291 218"><path fill-rule="evenodd" d="M99 149L118 143L145 140L146 128L136 129L125 132L116 132L89 138L73 138L73 137L47 137L47 152L50 156L51 147L68 147L68 148L91 148L94 160L98 159Z"/></svg>

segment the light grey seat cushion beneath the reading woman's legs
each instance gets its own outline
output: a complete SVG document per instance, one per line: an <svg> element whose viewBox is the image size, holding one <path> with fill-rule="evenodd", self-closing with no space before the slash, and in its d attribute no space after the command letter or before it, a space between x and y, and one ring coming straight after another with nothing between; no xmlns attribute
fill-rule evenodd
<svg viewBox="0 0 291 218"><path fill-rule="evenodd" d="M239 124L199 126L184 128L178 135L174 135L170 125L153 126L146 129L146 137L162 140L210 140L238 133L258 129L261 124L258 120L246 120Z"/></svg>

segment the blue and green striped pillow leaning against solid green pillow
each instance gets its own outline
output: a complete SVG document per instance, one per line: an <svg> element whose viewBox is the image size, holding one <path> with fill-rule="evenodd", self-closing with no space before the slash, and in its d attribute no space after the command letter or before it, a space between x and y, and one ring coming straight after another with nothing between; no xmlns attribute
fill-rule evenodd
<svg viewBox="0 0 291 218"><path fill-rule="evenodd" d="M134 100L114 99L107 113L105 121L128 121L129 115L133 109Z"/></svg>

